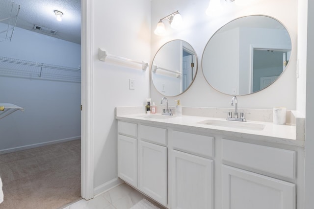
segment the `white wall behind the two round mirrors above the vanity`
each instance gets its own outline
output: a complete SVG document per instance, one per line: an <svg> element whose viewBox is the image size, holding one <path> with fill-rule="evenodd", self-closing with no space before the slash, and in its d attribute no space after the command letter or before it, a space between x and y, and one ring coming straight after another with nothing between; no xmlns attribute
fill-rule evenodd
<svg viewBox="0 0 314 209"><path fill-rule="evenodd" d="M290 110L296 109L296 54L297 54L297 0L254 0L247 1L247 5L228 4L223 13L207 16L205 11L209 0L152 0L152 48L151 56L154 56L160 46L173 39L183 39L191 44L198 55L199 67L196 80L187 92L180 95L183 106L202 107L231 107L231 95L215 91L206 82L201 68L201 59L204 47L214 32L224 24L235 18L246 15L268 15L281 21L288 29L292 41L292 54L290 64L285 73L270 87L251 95L239 96L239 108L272 109L274 106L286 106ZM172 30L160 37L154 34L158 20L172 12L179 10L183 17L184 28L180 31ZM197 15L196 15L197 14ZM202 91L199 91L202 89ZM158 100L162 97L154 86L151 86L151 97ZM169 104L175 105L175 99L170 97Z"/></svg>

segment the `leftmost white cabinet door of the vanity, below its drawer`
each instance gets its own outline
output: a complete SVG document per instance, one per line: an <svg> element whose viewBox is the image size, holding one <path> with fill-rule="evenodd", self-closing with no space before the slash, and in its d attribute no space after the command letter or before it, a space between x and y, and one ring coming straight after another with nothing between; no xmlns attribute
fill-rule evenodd
<svg viewBox="0 0 314 209"><path fill-rule="evenodd" d="M118 135L118 177L137 187L137 139Z"/></svg>

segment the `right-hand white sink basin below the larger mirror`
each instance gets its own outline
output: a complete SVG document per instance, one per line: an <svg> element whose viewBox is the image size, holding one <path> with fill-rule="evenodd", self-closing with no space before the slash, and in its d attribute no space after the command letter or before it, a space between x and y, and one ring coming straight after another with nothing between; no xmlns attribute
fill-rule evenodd
<svg viewBox="0 0 314 209"><path fill-rule="evenodd" d="M198 123L205 124L205 125L222 126L222 127L227 127L227 128L239 128L239 129L256 130L256 131L262 131L265 127L264 124L260 124L260 123L239 122L239 121L230 121L230 120L209 119L209 120L204 120Z"/></svg>

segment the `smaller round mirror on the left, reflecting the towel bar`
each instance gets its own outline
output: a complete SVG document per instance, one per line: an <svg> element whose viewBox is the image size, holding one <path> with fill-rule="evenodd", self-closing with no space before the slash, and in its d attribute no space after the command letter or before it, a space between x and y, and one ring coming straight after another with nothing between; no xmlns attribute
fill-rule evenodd
<svg viewBox="0 0 314 209"><path fill-rule="evenodd" d="M183 40L170 41L157 51L152 63L152 81L165 96L177 96L193 83L197 72L197 56Z"/></svg>

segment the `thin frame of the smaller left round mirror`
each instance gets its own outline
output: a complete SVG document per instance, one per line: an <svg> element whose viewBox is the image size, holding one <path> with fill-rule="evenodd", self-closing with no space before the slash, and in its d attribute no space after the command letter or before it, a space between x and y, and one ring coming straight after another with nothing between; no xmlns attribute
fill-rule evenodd
<svg viewBox="0 0 314 209"><path fill-rule="evenodd" d="M176 95L166 95L166 94L160 92L160 91L156 88L156 85L154 84L154 81L153 81L153 73L154 73L154 72L153 72L153 66L154 66L154 60L155 60L155 58L156 58L156 56L157 56L157 53L160 51L160 49L161 49L163 46L165 46L166 44L168 44L168 43L170 43L170 42L173 42L173 41L185 42L186 44L188 44L188 45L190 46L191 49L193 49L194 56L195 56L195 61L194 61L193 63L196 64L196 67L194 66L194 69L195 69L194 78L193 78L193 80L191 81L190 85L185 89L185 91L183 91L182 93L176 94ZM172 97L174 97L174 96L179 96L179 95L185 93L185 92L192 86L193 82L195 81L197 72L198 72L198 67L199 67L198 57L197 57L197 54L196 54L195 49L193 48L193 46L192 46L190 43L188 43L187 41L184 41L184 40L182 40L182 39L170 40L170 41L164 43L162 46L160 46L160 47L158 48L157 52L156 52L155 55L154 55L152 64L151 64L151 66L150 66L151 80L152 80L153 86L154 86L154 88L156 89L156 91L157 91L158 93L160 93L161 95L163 95L163 96L172 96Z"/></svg>

